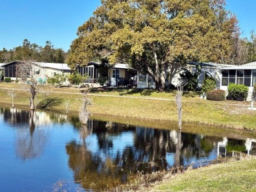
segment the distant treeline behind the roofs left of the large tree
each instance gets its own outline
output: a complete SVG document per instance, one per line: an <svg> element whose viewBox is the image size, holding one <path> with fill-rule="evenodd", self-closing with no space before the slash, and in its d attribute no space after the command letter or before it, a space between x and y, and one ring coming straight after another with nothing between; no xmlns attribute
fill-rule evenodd
<svg viewBox="0 0 256 192"><path fill-rule="evenodd" d="M35 43L30 43L24 39L22 46L14 47L10 50L3 48L0 50L0 63L9 63L14 60L33 60L47 63L64 63L67 52L62 48L54 48L51 41L46 41L41 47Z"/></svg>

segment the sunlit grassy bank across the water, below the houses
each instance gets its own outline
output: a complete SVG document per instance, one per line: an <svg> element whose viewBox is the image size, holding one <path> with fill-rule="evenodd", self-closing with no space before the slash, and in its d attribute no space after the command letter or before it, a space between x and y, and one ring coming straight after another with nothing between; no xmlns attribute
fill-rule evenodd
<svg viewBox="0 0 256 192"><path fill-rule="evenodd" d="M14 102L19 106L28 106L29 92L19 90L16 83L0 84L0 103L11 104L7 88L16 93ZM45 98L62 100L59 106L51 109L65 111L65 100L70 101L69 110L78 111L81 106L83 88L56 88L43 86L37 94L37 103ZM177 121L175 92L157 92L155 90L137 89L92 89L89 97L93 100L90 111L93 114L116 115L158 121ZM182 98L182 121L184 123L200 123L226 128L256 129L256 112L249 111L249 102L213 102L200 100L199 95L185 92Z"/></svg>

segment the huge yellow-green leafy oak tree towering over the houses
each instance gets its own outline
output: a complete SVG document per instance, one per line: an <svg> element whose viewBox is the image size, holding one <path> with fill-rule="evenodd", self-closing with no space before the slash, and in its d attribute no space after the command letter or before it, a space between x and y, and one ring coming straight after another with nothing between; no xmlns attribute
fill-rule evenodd
<svg viewBox="0 0 256 192"><path fill-rule="evenodd" d="M152 75L159 89L173 60L221 62L232 52L236 16L224 0L102 0L77 30L68 64L108 56Z"/></svg>

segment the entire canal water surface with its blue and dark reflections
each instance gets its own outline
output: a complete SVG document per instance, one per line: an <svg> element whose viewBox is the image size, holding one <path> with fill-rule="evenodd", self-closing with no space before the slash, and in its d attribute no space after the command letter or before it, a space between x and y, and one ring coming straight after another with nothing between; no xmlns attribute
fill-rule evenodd
<svg viewBox="0 0 256 192"><path fill-rule="evenodd" d="M143 124L143 123L141 123ZM108 189L138 172L255 153L256 140L0 107L0 191Z"/></svg>

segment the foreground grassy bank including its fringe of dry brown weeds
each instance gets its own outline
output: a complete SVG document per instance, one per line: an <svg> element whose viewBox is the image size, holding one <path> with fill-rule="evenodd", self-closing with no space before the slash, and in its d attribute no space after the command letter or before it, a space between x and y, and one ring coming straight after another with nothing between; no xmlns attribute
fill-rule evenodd
<svg viewBox="0 0 256 192"><path fill-rule="evenodd" d="M217 164L197 169L139 173L110 191L256 191L255 157L238 159L219 159Z"/></svg>

